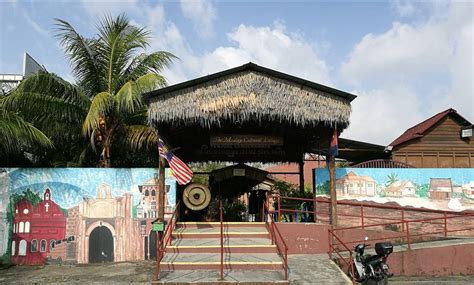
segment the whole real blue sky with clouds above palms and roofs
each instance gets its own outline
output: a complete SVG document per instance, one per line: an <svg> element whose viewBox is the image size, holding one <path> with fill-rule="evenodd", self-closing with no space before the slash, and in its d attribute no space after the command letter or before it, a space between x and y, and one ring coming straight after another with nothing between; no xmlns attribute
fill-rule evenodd
<svg viewBox="0 0 474 285"><path fill-rule="evenodd" d="M180 58L170 84L252 61L357 94L346 138L387 145L451 107L474 121L470 1L0 0L0 73L21 73L27 51L73 81L54 18L93 36L104 13Z"/></svg>

